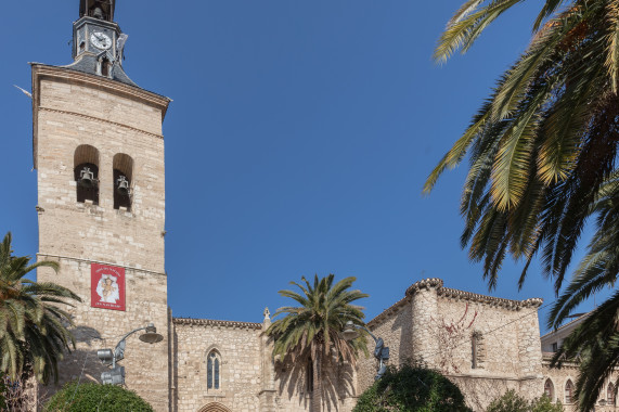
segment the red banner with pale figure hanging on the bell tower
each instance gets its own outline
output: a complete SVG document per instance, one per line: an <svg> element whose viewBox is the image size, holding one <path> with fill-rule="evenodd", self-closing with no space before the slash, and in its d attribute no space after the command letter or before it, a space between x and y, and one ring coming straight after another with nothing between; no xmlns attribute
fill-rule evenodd
<svg viewBox="0 0 619 412"><path fill-rule="evenodd" d="M125 268L92 263L90 275L90 306L125 310Z"/></svg>

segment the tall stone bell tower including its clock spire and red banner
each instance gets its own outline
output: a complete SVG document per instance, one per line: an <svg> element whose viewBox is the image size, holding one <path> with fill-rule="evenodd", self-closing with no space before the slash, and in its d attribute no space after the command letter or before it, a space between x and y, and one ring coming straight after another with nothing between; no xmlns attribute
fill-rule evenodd
<svg viewBox="0 0 619 412"><path fill-rule="evenodd" d="M162 123L170 100L125 74L127 36L114 11L114 0L81 0L74 62L31 65L37 258L61 265L57 274L43 268L37 276L82 299L69 308L77 349L61 364L60 384L100 381L107 366L96 350L154 323L164 340L149 345L132 335L120 364L128 388L168 411Z"/></svg>

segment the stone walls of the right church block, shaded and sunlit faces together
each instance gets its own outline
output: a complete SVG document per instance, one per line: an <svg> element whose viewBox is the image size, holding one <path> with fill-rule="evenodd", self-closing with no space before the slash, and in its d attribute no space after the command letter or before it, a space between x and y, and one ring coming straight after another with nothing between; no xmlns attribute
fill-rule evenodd
<svg viewBox="0 0 619 412"><path fill-rule="evenodd" d="M540 299L516 301L450 289L441 280L428 279L413 284L369 326L390 348L389 364L410 359L441 371L481 411L507 389L529 398L543 392L539 305ZM376 361L361 359L359 392L372 385L375 373Z"/></svg>

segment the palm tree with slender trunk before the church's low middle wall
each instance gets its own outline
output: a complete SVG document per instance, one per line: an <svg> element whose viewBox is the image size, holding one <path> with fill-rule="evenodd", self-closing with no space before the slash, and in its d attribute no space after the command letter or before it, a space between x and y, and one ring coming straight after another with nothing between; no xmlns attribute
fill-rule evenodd
<svg viewBox="0 0 619 412"><path fill-rule="evenodd" d="M364 337L348 342L341 336L341 331L348 321L363 324L362 308L351 302L369 295L350 291L356 278L346 278L333 284L334 278L330 274L319 279L317 274L313 285L305 276L301 278L305 284L291 282L302 293L280 291L280 295L294 299L299 306L278 309L274 317L285 316L266 331L273 338L274 357L288 356L293 362L304 366L311 362L311 410L314 412L322 410L323 365L333 357L354 365L359 350L366 351Z"/></svg>

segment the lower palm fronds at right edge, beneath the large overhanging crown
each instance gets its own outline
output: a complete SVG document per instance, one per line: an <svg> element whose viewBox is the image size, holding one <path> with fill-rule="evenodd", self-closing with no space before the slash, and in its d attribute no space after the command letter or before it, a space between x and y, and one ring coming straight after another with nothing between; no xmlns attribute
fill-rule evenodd
<svg viewBox="0 0 619 412"><path fill-rule="evenodd" d="M596 234L569 285L553 305L549 327L558 327L580 302L605 287L612 288L619 274L619 171L605 182L592 208L597 215ZM576 397L583 411L593 410L597 395L619 365L619 292L588 314L555 353L552 365L577 359L580 373Z"/></svg>

